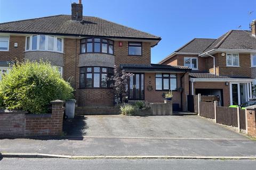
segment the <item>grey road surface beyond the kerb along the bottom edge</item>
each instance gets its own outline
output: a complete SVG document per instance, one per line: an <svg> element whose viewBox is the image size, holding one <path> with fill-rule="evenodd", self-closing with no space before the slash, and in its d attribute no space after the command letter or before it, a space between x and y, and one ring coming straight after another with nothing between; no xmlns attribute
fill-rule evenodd
<svg viewBox="0 0 256 170"><path fill-rule="evenodd" d="M169 169L255 169L255 160L202 160L202 159L21 159L3 158L0 169L16 170L70 170L70 169L141 169L141 170L169 170Z"/></svg>

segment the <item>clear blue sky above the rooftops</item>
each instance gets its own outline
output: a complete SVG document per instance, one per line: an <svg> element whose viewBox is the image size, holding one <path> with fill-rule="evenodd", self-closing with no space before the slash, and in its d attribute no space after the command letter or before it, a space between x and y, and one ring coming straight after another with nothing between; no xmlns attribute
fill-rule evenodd
<svg viewBox="0 0 256 170"><path fill-rule="evenodd" d="M0 0L0 23L71 14L71 2L78 0ZM249 30L250 22L256 19L256 0L82 0L82 3L85 16L97 16L161 37L151 49L151 63L158 63L193 38L218 38L231 29Z"/></svg>

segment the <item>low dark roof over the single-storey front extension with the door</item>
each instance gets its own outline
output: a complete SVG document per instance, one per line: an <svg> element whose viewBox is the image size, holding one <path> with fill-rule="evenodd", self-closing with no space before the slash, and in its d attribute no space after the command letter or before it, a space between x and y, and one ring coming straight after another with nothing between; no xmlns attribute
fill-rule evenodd
<svg viewBox="0 0 256 170"><path fill-rule="evenodd" d="M191 71L186 66L172 66L172 65L162 65L162 64L150 64L150 65L143 65L143 64L121 64L120 65L124 70L134 70L134 71Z"/></svg>

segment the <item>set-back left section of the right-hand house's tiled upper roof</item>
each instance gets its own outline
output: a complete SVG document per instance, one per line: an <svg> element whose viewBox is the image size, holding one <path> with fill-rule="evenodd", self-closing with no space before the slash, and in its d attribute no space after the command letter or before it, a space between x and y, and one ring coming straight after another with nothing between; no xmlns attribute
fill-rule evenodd
<svg viewBox="0 0 256 170"><path fill-rule="evenodd" d="M216 39L210 38L194 38L181 48L175 50L179 53L203 53Z"/></svg>

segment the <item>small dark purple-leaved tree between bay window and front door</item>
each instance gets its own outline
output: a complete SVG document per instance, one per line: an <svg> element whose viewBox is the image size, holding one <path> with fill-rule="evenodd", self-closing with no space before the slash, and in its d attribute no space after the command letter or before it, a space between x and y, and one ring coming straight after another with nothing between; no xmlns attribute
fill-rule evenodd
<svg viewBox="0 0 256 170"><path fill-rule="evenodd" d="M133 76L132 73L126 73L120 67L115 65L114 76L110 78L110 80L114 82L111 87L115 90L118 104L122 103L123 98L127 96L126 86L129 83L131 76Z"/></svg>

